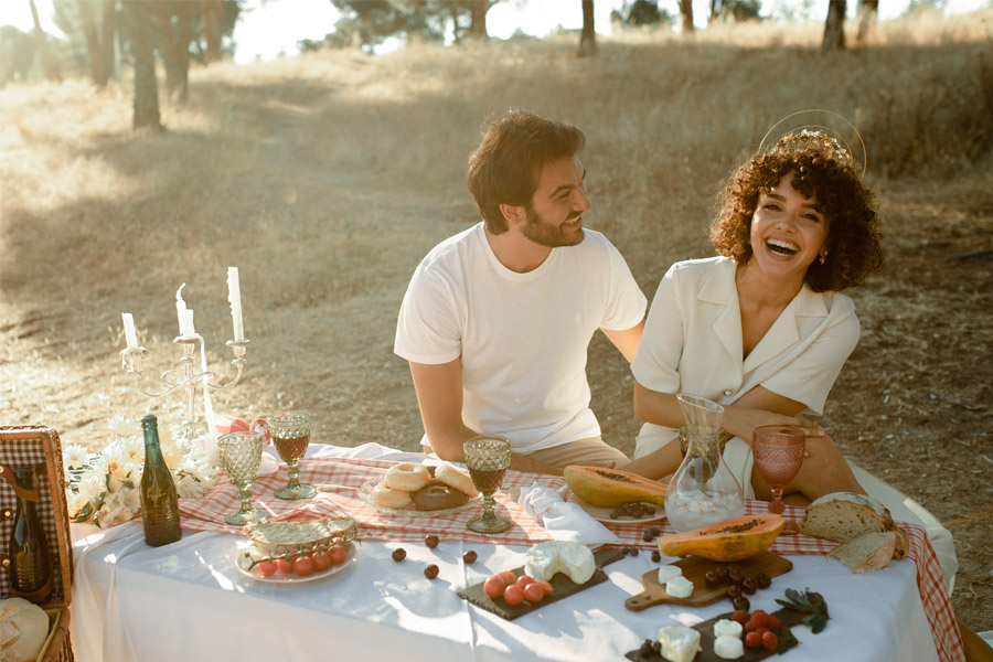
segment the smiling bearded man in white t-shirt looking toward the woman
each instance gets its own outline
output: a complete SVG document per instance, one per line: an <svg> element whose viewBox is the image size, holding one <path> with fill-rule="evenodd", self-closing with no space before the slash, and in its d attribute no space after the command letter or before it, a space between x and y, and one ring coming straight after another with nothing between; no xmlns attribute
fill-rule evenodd
<svg viewBox="0 0 993 662"><path fill-rule="evenodd" d="M617 248L583 229L585 140L520 110L490 124L467 177L483 222L414 273L394 351L410 362L423 444L441 459L496 435L514 469L627 461L600 438L586 354L600 329L632 361L647 301Z"/></svg>

